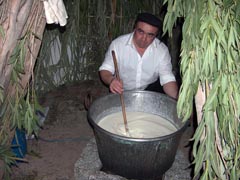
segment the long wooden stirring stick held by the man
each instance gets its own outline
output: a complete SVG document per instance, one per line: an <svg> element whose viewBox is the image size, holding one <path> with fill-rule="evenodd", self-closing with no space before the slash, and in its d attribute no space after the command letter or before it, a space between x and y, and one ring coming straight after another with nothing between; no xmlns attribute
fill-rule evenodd
<svg viewBox="0 0 240 180"><path fill-rule="evenodd" d="M120 81L119 72L118 72L118 66L117 66L117 58L116 58L116 55L115 55L114 51L112 51L112 56L113 56L113 62L114 62L114 67L115 67L115 71L116 71L116 78L117 78L117 80ZM127 117L126 117L126 111L125 111L123 94L120 94L120 99L121 99L121 104L122 104L122 114L123 114L125 131L126 131L127 134L129 134L129 130L128 130L128 126L127 126Z"/></svg>

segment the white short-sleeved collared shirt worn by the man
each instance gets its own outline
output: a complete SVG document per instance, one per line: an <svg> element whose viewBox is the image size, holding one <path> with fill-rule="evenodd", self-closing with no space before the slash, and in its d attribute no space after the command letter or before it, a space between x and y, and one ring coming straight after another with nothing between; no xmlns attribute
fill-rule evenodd
<svg viewBox="0 0 240 180"><path fill-rule="evenodd" d="M155 38L141 57L132 38L133 33L130 33L113 40L99 71L108 70L112 74L115 73L112 57L114 50L124 90L144 90L158 77L161 85L176 81L172 73L171 57L164 43Z"/></svg>

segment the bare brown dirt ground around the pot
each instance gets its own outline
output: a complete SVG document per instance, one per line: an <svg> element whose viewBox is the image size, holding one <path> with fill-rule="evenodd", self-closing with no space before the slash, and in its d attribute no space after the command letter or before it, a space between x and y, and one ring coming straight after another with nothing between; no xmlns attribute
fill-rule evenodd
<svg viewBox="0 0 240 180"><path fill-rule="evenodd" d="M91 94L93 100L108 93L101 83L86 81L68 87L59 87L47 93L40 102L49 107L38 139L28 139L28 163L13 167L12 180L73 180L74 164L88 141L94 137L87 121L84 99ZM189 126L180 148L189 154Z"/></svg>

